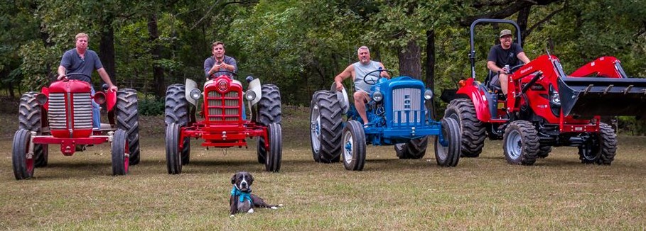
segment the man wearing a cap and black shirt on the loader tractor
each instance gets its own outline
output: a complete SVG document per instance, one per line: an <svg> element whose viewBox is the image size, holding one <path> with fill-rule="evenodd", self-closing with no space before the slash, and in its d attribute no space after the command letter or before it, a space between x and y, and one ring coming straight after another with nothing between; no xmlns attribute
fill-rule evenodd
<svg viewBox="0 0 646 231"><path fill-rule="evenodd" d="M503 67L505 65L516 66L519 64L519 60L522 63L529 62L529 58L523 52L522 47L517 43L512 43L512 40L514 38L511 30L500 31L500 44L492 46L487 57L487 68L495 73L495 76L491 79L491 84L496 86L500 84L504 94L507 94L507 83L509 81L507 77L510 70Z"/></svg>

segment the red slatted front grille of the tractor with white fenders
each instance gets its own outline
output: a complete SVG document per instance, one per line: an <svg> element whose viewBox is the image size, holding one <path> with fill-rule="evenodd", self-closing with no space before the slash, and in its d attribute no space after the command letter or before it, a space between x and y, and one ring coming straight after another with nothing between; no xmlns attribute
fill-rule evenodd
<svg viewBox="0 0 646 231"><path fill-rule="evenodd" d="M239 93L229 91L220 94L217 91L208 93L208 120L209 121L237 121L240 116Z"/></svg>

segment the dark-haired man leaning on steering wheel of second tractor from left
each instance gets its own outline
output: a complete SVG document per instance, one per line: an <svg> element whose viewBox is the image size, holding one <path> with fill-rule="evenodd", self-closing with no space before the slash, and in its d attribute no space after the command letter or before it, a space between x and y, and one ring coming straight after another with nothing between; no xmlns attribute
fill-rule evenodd
<svg viewBox="0 0 646 231"><path fill-rule="evenodd" d="M225 43L217 41L213 43L211 47L213 56L208 57L206 60L204 60L204 72L206 74L206 79L208 80L212 76L217 77L221 74L226 74L229 77L232 77L233 74L231 74L230 72L237 72L238 66L233 57L225 55Z"/></svg>

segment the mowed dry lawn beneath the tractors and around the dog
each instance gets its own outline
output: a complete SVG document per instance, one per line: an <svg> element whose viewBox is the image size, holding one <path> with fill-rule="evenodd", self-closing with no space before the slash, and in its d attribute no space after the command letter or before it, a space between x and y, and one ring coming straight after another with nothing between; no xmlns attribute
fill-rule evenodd
<svg viewBox="0 0 646 231"><path fill-rule="evenodd" d="M318 164L311 157L308 108L284 107L279 173L249 148L192 143L183 173L168 175L163 118L142 117L141 163L111 176L108 145L64 157L50 147L49 166L16 181L11 139L17 116L0 114L2 230L644 230L646 137L619 137L611 166L581 164L574 147L558 147L534 166L505 162L500 141L457 167L399 160L392 147L367 148L364 171ZM254 193L279 210L229 217L230 178L252 172Z"/></svg>

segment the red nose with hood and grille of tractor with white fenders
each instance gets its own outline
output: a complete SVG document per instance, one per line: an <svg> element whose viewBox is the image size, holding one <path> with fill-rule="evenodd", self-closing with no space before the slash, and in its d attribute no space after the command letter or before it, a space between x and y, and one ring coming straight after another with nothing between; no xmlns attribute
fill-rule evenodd
<svg viewBox="0 0 646 231"><path fill-rule="evenodd" d="M204 84L205 123L239 122L242 114L242 84L228 77L212 79Z"/></svg>

